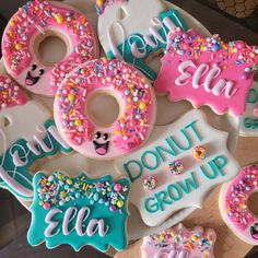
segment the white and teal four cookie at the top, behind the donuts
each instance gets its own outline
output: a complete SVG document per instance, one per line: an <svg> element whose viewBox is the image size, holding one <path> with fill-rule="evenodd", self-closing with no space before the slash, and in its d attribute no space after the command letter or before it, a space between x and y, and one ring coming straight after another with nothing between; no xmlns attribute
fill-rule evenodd
<svg viewBox="0 0 258 258"><path fill-rule="evenodd" d="M133 64L152 81L156 72L148 60L166 48L171 30L187 30L179 12L166 11L161 0L96 1L96 11L98 37L107 57Z"/></svg>

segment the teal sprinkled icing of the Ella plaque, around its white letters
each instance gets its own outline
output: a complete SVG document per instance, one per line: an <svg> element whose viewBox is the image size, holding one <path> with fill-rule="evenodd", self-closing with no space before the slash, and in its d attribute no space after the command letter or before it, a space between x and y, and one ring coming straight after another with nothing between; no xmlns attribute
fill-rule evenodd
<svg viewBox="0 0 258 258"><path fill-rule="evenodd" d="M46 242L46 246L52 249L61 244L68 244L74 250L80 250L84 245L92 245L101 251L106 251L108 246L122 250L127 246L127 202L129 181L120 179L115 181L112 176L99 179L90 179L84 173L77 178L64 176L55 172L47 177L43 173L34 176L34 201L32 204L32 222L27 233L30 245L36 246ZM75 211L68 218L67 234L63 231L63 216L69 209ZM54 209L59 209L58 214L51 218L56 225L50 236L46 234L49 221L46 216ZM82 209L89 209L90 215L84 216L82 226L83 236L78 233L78 218ZM95 233L89 235L87 227L92 220L103 220L105 236L101 236L95 226Z"/></svg>

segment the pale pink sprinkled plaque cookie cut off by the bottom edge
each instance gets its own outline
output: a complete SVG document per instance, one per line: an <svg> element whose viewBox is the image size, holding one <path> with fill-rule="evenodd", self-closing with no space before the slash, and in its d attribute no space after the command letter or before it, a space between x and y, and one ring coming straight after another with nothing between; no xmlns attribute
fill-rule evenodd
<svg viewBox="0 0 258 258"><path fill-rule="evenodd" d="M213 258L216 234L202 227L188 230L178 224L143 238L142 258Z"/></svg>

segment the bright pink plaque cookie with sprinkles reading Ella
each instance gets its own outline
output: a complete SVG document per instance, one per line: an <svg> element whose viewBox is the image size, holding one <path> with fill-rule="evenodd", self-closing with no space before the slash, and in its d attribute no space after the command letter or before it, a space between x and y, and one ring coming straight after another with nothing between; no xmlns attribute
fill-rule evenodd
<svg viewBox="0 0 258 258"><path fill-rule="evenodd" d="M157 93L174 102L188 99L195 107L209 105L218 114L245 112L258 63L257 46L239 40L225 44L219 35L204 38L179 28L169 33L167 42Z"/></svg>

